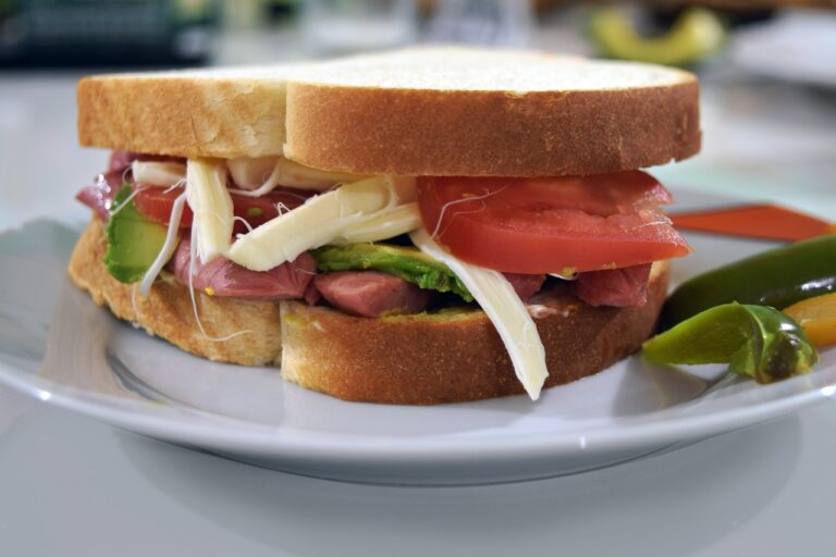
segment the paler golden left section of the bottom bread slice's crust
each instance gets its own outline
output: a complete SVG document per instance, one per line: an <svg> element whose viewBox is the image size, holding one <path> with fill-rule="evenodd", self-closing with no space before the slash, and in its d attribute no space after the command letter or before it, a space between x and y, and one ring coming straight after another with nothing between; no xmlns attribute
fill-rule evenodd
<svg viewBox="0 0 836 557"><path fill-rule="evenodd" d="M120 319L142 325L148 334L164 338L186 351L210 360L244 366L275 366L282 354L279 305L195 293L200 321L208 335L223 337L249 331L230 341L204 335L195 321L188 288L180 282L157 281L147 298L134 295L136 284L122 284L104 267L104 224L97 216L75 245L69 273L99 306L108 306Z"/></svg>

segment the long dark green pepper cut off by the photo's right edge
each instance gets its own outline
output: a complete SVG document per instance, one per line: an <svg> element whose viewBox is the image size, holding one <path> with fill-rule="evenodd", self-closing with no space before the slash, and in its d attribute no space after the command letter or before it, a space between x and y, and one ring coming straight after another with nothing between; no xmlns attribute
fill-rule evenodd
<svg viewBox="0 0 836 557"><path fill-rule="evenodd" d="M662 327L727 304L784 309L836 292L836 234L771 249L683 283L665 302Z"/></svg>

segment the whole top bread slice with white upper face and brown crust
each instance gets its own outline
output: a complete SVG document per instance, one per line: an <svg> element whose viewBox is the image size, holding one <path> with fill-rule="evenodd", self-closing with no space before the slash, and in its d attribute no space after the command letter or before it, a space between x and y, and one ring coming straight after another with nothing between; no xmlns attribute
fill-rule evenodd
<svg viewBox="0 0 836 557"><path fill-rule="evenodd" d="M190 158L283 154L356 174L595 174L699 151L699 86L648 64L422 48L87 77L78 136Z"/></svg>

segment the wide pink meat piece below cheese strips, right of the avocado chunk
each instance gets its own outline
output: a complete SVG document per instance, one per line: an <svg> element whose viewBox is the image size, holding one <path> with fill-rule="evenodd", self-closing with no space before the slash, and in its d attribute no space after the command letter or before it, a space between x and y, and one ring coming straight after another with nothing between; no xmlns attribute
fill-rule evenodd
<svg viewBox="0 0 836 557"><path fill-rule="evenodd" d="M184 284L188 284L189 238L183 238L168 264ZM308 287L317 273L317 262L304 252L269 271L250 271L229 259L218 258L209 263L196 262L192 284L213 296L235 296L259 300L282 300L307 297Z"/></svg>

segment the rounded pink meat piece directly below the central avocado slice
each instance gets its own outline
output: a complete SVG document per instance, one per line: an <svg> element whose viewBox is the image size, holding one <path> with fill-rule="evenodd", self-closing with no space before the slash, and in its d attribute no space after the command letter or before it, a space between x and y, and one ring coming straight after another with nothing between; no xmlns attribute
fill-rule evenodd
<svg viewBox="0 0 836 557"><path fill-rule="evenodd" d="M431 296L429 290L378 271L320 274L314 284L335 308L365 318L419 313L427 309Z"/></svg>

